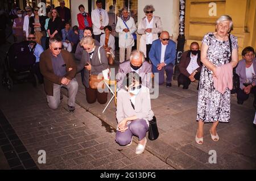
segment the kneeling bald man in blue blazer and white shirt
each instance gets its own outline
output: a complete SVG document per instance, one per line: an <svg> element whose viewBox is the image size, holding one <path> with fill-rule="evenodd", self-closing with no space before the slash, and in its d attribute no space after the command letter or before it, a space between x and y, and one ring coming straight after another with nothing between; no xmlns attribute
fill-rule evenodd
<svg viewBox="0 0 256 181"><path fill-rule="evenodd" d="M164 83L164 70L166 71L166 87L172 86L172 75L174 74L174 64L176 58L176 43L170 40L167 31L162 31L160 38L153 41L149 52L152 62L152 72L159 73L159 85Z"/></svg>

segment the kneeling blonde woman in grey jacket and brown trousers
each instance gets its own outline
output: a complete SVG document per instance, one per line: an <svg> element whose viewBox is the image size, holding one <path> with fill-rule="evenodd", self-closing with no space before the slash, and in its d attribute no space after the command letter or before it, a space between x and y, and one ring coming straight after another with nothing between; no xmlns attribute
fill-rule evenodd
<svg viewBox="0 0 256 181"><path fill-rule="evenodd" d="M89 74L98 75L102 70L108 68L108 58L104 48L96 46L94 39L91 36L83 37L80 41L81 47L85 51L82 52L80 64L77 66L77 71L84 71L82 84L85 86L86 100L89 104L95 103L96 100L100 104L105 104L108 101L108 92L100 92L97 89L92 89L89 86ZM99 57L100 54L100 57Z"/></svg>

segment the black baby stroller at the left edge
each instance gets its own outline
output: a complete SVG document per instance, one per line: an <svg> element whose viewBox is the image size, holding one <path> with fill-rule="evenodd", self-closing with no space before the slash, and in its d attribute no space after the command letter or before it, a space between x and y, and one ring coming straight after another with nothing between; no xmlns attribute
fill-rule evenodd
<svg viewBox="0 0 256 181"><path fill-rule="evenodd" d="M11 91L14 83L22 82L31 82L36 87L38 84L37 77L31 69L35 61L34 49L30 50L28 41L11 45L3 63L3 87Z"/></svg>

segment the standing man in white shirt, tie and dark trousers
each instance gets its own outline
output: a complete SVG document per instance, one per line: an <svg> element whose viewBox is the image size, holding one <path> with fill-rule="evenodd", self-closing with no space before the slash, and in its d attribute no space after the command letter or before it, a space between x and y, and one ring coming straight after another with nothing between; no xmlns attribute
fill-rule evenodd
<svg viewBox="0 0 256 181"><path fill-rule="evenodd" d="M92 11L92 23L94 39L100 42L100 36L104 33L104 27L109 24L108 12L102 9L102 2L96 1L97 9Z"/></svg>

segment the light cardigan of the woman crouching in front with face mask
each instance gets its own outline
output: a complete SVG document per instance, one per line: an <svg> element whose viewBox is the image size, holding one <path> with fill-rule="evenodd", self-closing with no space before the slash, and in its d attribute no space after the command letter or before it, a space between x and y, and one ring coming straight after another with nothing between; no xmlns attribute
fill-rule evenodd
<svg viewBox="0 0 256 181"><path fill-rule="evenodd" d="M125 90L119 90L117 94L117 122L120 123L125 117L136 115L138 119L144 119L148 124L152 120L154 112L151 110L150 92L145 86L141 87L139 94L135 98L135 110L131 106L131 95ZM130 121L127 123L129 124Z"/></svg>

